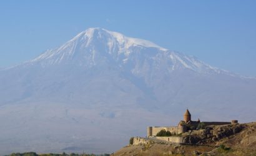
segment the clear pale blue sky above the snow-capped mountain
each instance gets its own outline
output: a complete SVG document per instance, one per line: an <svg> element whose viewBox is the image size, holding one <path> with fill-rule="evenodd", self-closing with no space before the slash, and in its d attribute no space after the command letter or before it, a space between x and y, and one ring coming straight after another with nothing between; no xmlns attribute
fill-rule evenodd
<svg viewBox="0 0 256 156"><path fill-rule="evenodd" d="M102 27L256 76L256 1L0 1L0 67Z"/></svg>

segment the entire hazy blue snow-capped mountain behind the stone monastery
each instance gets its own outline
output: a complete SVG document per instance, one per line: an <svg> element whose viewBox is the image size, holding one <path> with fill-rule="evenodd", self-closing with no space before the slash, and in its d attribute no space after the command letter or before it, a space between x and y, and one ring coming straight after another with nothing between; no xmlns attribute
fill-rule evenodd
<svg viewBox="0 0 256 156"><path fill-rule="evenodd" d="M0 154L112 152L186 107L192 119L255 120L255 79L101 28L1 69L0 83Z"/></svg>

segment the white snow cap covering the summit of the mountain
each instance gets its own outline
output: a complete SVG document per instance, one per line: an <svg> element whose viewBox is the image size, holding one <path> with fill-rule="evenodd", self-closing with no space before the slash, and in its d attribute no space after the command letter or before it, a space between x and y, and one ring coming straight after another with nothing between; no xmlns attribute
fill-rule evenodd
<svg viewBox="0 0 256 156"><path fill-rule="evenodd" d="M37 57L33 61L54 59L55 56L59 57L58 60L55 60L56 62L62 61L64 57L69 57L69 59L71 59L79 48L85 50L84 52L89 52L94 49L92 44L99 46L97 44L101 44L101 42L103 42L104 46L106 46L105 48L107 48L107 51L110 54L112 52L118 52L118 54L124 53L129 55L129 48L132 46L155 47L162 51L166 51L166 49L157 46L150 41L126 37L118 32L107 31L106 29L89 28L86 31L78 34L63 46L52 51L44 52L44 54Z"/></svg>

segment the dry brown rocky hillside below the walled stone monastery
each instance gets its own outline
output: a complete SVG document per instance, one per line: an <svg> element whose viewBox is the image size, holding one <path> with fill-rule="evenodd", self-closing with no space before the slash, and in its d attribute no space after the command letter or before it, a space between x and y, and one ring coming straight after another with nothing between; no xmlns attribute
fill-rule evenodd
<svg viewBox="0 0 256 156"><path fill-rule="evenodd" d="M256 155L256 122L209 126L184 134L184 141L128 145L114 155Z"/></svg>

